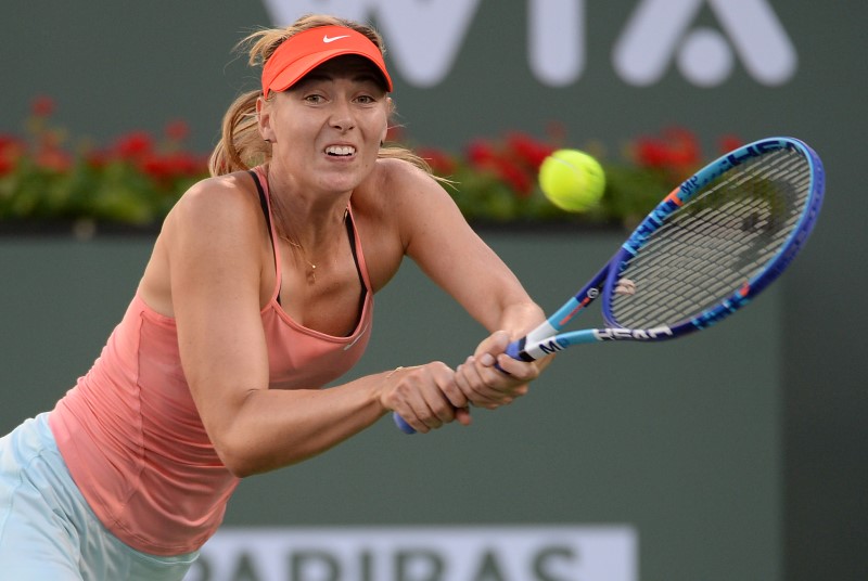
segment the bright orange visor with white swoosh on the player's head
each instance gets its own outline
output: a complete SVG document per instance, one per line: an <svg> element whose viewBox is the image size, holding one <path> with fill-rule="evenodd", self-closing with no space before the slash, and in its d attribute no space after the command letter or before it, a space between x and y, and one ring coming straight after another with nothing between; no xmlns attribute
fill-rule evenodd
<svg viewBox="0 0 868 581"><path fill-rule="evenodd" d="M318 26L291 36L275 50L263 67L263 95L285 91L317 66L343 54L358 54L375 64L392 91L392 78L376 44L352 28Z"/></svg>

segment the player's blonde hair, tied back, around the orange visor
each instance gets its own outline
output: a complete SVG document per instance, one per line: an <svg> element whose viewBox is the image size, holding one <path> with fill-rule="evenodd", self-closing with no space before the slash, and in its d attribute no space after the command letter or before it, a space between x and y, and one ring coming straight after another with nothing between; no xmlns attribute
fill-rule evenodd
<svg viewBox="0 0 868 581"><path fill-rule="evenodd" d="M286 28L258 30L239 42L235 49L246 49L248 64L261 67L281 42L295 34L319 26L344 26L357 30L368 37L385 54L383 39L372 27L345 18L319 14L302 16ZM256 101L261 94L261 90L256 89L240 95L224 115L220 141L208 160L212 176L244 171L271 159L271 144L263 140L256 121ZM406 147L381 145L378 157L404 159L432 175L427 162Z"/></svg>

